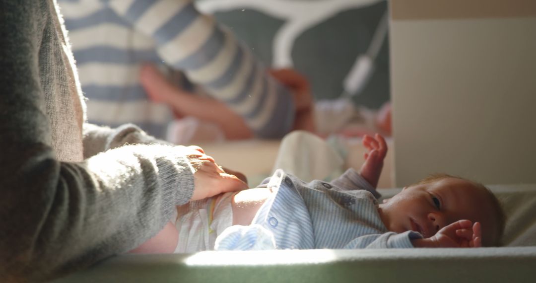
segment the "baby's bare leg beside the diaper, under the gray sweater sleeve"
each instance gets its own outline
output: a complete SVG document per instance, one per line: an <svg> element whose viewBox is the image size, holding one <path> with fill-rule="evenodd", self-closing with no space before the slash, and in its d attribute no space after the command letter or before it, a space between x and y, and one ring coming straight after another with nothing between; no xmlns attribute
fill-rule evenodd
<svg viewBox="0 0 536 283"><path fill-rule="evenodd" d="M177 228L169 221L157 235L129 252L132 254L173 254L177 243Z"/></svg>

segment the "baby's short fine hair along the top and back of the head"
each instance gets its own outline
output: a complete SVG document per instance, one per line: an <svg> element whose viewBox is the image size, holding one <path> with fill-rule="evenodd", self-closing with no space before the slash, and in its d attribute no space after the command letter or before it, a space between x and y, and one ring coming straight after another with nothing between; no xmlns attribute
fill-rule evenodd
<svg viewBox="0 0 536 283"><path fill-rule="evenodd" d="M497 229L496 229L495 233L497 235L497 238L493 243L486 243L486 244L482 243L482 245L491 246L491 247L500 246L501 245L501 239L502 239L502 236L503 236L503 233L504 233L504 225L505 225L505 222L506 222L506 215L504 214L503 207L502 207L501 203L499 202L499 200L497 199L497 197L495 196L495 194L489 188L487 188L485 185L483 185L483 184L481 184L479 182L467 180L466 178L462 178L462 177L459 177L459 176L452 176L452 175L443 174L443 173L428 175L427 177L423 178L422 180L420 180L419 182L415 183L414 185L429 184L429 183L433 183L433 182L436 182L436 181L443 180L445 178L456 178L456 179L459 179L459 180L464 180L464 181L466 181L468 183L471 183L475 188L477 188L479 190L484 190L484 191L487 192L487 195L489 196L489 200L491 201L492 206L493 206L493 208L495 210L495 219L497 220Z"/></svg>

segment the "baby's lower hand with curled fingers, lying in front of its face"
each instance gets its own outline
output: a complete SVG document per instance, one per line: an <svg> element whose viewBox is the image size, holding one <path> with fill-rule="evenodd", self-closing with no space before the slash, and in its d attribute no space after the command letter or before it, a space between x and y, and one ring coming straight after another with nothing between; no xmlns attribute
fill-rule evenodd
<svg viewBox="0 0 536 283"><path fill-rule="evenodd" d="M459 220L443 227L427 239L412 240L415 248L479 248L482 247L480 222Z"/></svg>

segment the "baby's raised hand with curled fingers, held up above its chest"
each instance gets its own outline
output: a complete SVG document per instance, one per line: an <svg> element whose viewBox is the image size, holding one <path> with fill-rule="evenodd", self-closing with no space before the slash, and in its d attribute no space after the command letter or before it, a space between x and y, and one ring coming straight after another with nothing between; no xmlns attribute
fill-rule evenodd
<svg viewBox="0 0 536 283"><path fill-rule="evenodd" d="M367 148L364 154L365 162L361 166L360 174L374 188L378 185L379 175L382 173L383 159L387 154L387 143L385 139L376 134L373 137L363 136L363 146Z"/></svg>

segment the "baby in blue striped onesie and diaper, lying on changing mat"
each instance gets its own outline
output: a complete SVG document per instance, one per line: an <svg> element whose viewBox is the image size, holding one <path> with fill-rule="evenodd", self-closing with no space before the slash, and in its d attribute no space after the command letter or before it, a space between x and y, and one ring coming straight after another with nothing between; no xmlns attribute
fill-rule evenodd
<svg viewBox="0 0 536 283"><path fill-rule="evenodd" d="M379 204L387 146L379 135L363 145L360 173L307 183L277 170L257 188L177 207L176 221L132 252L498 245L504 216L486 187L433 175Z"/></svg>

